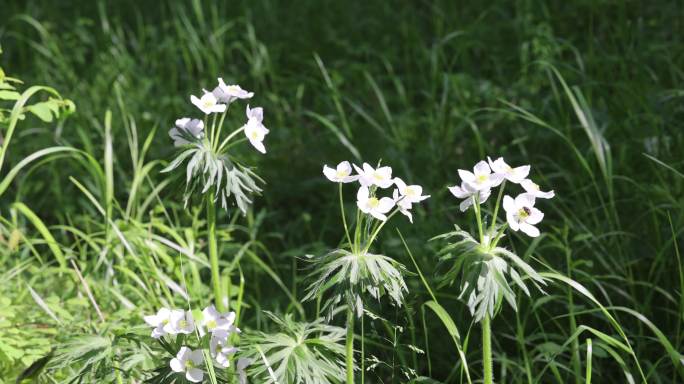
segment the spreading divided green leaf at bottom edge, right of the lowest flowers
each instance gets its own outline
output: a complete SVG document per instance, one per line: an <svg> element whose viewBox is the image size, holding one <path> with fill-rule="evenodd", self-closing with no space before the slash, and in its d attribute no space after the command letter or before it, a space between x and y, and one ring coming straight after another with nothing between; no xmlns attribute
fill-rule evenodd
<svg viewBox="0 0 684 384"><path fill-rule="evenodd" d="M249 371L252 382L273 383L273 375L278 383L341 382L344 329L327 325L322 319L306 323L294 321L292 315L280 318L270 312L266 314L276 323L278 331L248 333L243 339L243 345L248 345L246 356L254 362Z"/></svg>

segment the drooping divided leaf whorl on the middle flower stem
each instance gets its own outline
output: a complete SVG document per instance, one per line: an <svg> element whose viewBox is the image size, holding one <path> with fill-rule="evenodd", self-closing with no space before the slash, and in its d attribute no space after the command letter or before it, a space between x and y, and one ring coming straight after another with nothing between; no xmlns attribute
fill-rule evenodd
<svg viewBox="0 0 684 384"><path fill-rule="evenodd" d="M372 253L355 254L345 249L336 249L312 259L313 282L307 288L304 300L311 300L328 288L332 295L324 302L323 309L332 316L335 307L345 304L363 314L363 299L370 294L376 300L387 294L390 303L401 306L404 292L408 292L403 274L405 267L396 260Z"/></svg>

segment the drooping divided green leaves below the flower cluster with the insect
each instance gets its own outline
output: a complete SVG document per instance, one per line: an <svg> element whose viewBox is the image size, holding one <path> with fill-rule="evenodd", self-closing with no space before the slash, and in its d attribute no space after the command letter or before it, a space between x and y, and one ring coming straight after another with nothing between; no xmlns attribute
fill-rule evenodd
<svg viewBox="0 0 684 384"><path fill-rule="evenodd" d="M452 284L460 278L459 298L465 300L476 322L487 314L494 317L504 300L517 311L513 287L529 296L524 280L530 280L540 290L541 285L546 285L518 255L502 247L483 246L458 226L435 239L449 242L439 252L440 264L447 268L442 276L443 284Z"/></svg>

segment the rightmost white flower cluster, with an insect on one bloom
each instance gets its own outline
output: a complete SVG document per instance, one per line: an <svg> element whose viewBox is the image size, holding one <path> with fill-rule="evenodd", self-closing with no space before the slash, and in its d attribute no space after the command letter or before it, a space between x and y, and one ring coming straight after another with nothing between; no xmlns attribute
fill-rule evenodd
<svg viewBox="0 0 684 384"><path fill-rule="evenodd" d="M525 192L515 198L504 196L503 207L506 211L506 221L512 230L521 230L531 237L539 236L539 229L534 225L538 224L544 214L534 207L536 199L550 199L554 197L554 192L542 192L537 184L528 179L530 166L511 167L502 157L492 161L487 157L487 161L480 161L475 164L473 171L464 169L458 170L461 177L461 185L449 187L449 191L459 199L463 199L460 209L465 212L468 207L477 203L485 202L492 193L492 189L500 186L504 181L513 184L520 184Z"/></svg>

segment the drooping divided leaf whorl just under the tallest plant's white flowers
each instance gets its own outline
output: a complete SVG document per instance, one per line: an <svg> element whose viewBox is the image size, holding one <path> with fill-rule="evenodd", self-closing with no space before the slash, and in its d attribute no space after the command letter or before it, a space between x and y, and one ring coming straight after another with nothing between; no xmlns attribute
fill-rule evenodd
<svg viewBox="0 0 684 384"><path fill-rule="evenodd" d="M186 148L162 170L171 172L187 161L183 194L185 204L195 193L208 195L213 190L213 196L207 196L208 198L220 200L221 207L228 209L228 199L232 197L245 214L252 204L252 197L261 194L259 184L264 181L227 154L215 153L205 141L195 140Z"/></svg>

